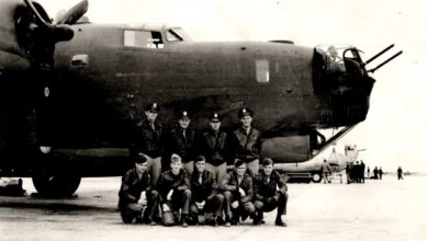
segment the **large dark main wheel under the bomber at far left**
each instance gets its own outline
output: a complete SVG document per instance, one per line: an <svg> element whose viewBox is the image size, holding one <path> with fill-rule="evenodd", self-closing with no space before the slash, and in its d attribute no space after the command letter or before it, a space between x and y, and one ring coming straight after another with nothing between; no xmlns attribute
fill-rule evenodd
<svg viewBox="0 0 428 241"><path fill-rule="evenodd" d="M81 177L69 173L49 174L38 172L33 175L32 180L38 195L46 197L67 197L77 191Z"/></svg>

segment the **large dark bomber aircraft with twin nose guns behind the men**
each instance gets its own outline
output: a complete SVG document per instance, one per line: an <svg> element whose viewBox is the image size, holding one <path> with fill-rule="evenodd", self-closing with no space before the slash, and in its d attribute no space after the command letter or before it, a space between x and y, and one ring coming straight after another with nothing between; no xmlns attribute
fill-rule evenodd
<svg viewBox="0 0 428 241"><path fill-rule="evenodd" d="M149 102L169 125L189 110L195 128L218 111L230 129L249 106L263 154L306 161L365 119L369 72L396 56L367 70L379 55L363 62L351 46L334 62L323 46L196 43L176 26L92 24L87 9L83 0L53 22L32 0L0 2L0 175L32 176L41 194L121 175L131 126ZM317 129L330 127L342 130L325 140Z"/></svg>

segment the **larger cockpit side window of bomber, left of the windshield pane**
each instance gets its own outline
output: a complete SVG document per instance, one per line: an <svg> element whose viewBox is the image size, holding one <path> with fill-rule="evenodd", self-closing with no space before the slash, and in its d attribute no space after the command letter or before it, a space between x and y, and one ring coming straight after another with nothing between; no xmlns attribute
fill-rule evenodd
<svg viewBox="0 0 428 241"><path fill-rule="evenodd" d="M164 48L162 35L156 31L124 31L123 44L126 47Z"/></svg>

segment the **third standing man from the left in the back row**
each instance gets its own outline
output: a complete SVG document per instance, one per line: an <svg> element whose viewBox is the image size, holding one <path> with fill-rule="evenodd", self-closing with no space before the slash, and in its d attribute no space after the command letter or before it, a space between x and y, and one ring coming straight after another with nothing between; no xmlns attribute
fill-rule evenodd
<svg viewBox="0 0 428 241"><path fill-rule="evenodd" d="M201 152L206 158L206 170L214 174L219 186L226 175L227 134L221 130L222 118L218 113L210 115L210 130L202 135Z"/></svg>

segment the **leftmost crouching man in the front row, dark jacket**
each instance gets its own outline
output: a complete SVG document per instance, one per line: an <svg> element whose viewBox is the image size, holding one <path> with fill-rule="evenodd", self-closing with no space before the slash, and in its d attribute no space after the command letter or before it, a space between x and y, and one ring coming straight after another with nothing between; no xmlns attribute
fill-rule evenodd
<svg viewBox="0 0 428 241"><path fill-rule="evenodd" d="M142 197L142 193L145 194ZM135 167L122 177L119 192L119 208L125 223L149 223L158 207L158 192L153 190L150 175L147 173L147 159L143 153L135 157Z"/></svg>

